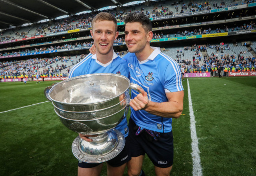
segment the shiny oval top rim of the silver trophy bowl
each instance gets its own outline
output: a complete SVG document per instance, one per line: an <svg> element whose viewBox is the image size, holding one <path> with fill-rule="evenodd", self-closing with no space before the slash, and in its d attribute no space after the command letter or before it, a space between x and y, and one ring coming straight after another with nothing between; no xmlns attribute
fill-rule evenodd
<svg viewBox="0 0 256 176"><path fill-rule="evenodd" d="M82 78L82 77L89 77L89 76L94 76L94 75L111 75L111 76L116 76L116 77L122 77L124 79L126 79L126 81L128 81L128 83L130 84L130 80L123 76L123 75L118 75L118 74L113 74L113 73L93 73L93 74L87 74L87 75L80 75L80 76L76 76L76 77L72 77L70 79L66 79L64 81L61 81L57 84L54 84L54 86L52 86L52 88L50 88L49 92L48 92L48 96L49 98L56 102L56 103L60 103L60 104L63 104L63 105L79 105L79 106L83 106L83 105L97 105L97 104L100 104L100 103L105 103L105 102L108 102L108 101L111 101L117 97L119 97L120 95L124 94L124 92L126 92L127 89L129 89L129 86L126 88L126 90L124 90L123 92L121 92L119 95L116 95L115 97L112 97L112 98L109 98L107 100L103 100L103 101L96 101L94 103L65 103L65 102L62 102L62 101L57 101L55 99L52 99L52 97L50 96L50 93L52 92L52 90L54 90L55 87L57 87L59 84L63 84L65 82L68 82L68 81L72 81L74 79L78 79L78 78Z"/></svg>

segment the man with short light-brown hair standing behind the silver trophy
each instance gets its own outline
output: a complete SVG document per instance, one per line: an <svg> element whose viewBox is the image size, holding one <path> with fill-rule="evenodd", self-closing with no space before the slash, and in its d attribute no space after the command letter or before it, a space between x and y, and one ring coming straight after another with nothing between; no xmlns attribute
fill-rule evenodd
<svg viewBox="0 0 256 176"><path fill-rule="evenodd" d="M91 35L96 54L88 54L81 62L73 66L69 78L92 73L118 73L129 76L127 62L113 50L114 40L118 36L117 21L110 13L99 13L93 18ZM107 161L108 176L122 176L126 163L131 159L129 150L128 126L124 118L116 127L126 138L124 149L115 158ZM93 141L90 135L79 134L87 142ZM78 162L78 176L99 176L103 163Z"/></svg>

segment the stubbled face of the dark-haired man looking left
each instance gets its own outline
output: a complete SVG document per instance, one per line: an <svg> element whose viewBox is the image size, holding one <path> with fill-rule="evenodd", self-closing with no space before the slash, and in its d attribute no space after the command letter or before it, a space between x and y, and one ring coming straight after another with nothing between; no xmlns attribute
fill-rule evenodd
<svg viewBox="0 0 256 176"><path fill-rule="evenodd" d="M146 46L149 46L149 42L152 39L153 33L149 31L146 33L142 24L139 22L128 22L125 25L125 42L130 53L143 53Z"/></svg>

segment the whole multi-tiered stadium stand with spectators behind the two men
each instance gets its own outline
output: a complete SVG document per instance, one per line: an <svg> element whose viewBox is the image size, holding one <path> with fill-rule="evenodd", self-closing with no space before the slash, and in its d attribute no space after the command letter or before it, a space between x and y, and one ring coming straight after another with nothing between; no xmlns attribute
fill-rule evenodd
<svg viewBox="0 0 256 176"><path fill-rule="evenodd" d="M191 2L189 0L184 0L176 3L167 0L145 2L139 5L119 7L104 11L108 11L116 16L118 22L123 22L124 16L128 13L135 12L148 15L148 17L153 20L153 39L245 31L245 34L243 34L243 36L246 36L245 39L232 35L234 39L221 37L214 39L209 38L210 40L207 41L207 43L198 38L197 40L182 39L178 42L174 41L174 43L152 42L152 46L155 45L160 47L165 54L172 57L180 65L185 65L187 69L191 69L190 72L193 72L194 70L197 72L200 72L200 70L201 72L206 72L206 70L208 70L208 72L210 72L211 70L208 69L208 66L210 66L210 68L213 66L222 66L223 68L227 66L228 68L232 68L234 64L235 66L238 65L236 66L236 70L238 67L243 68L247 66L249 67L249 70L251 70L253 66L255 67L256 42L255 37L251 38L253 34L250 35L248 33L246 35L246 32L256 28L255 16L250 16L254 15L255 9L247 8L244 14L242 14L242 11L239 9L234 10L231 11L232 15L230 15L229 11L217 11L219 13L211 14L207 12L207 16L200 14L184 17L168 16L209 9L221 9L224 7L239 6L240 8L240 5L243 5L244 8L245 5L249 3L253 3L253 1L244 2L241 0L233 2L232 0L216 0L213 3L212 1ZM0 44L0 57L2 57L1 59L4 58L4 60L0 60L1 76L7 75L11 77L19 76L20 74L34 75L35 73L48 74L48 76L57 73L67 75L72 65L78 63L83 56L88 53L88 48L92 44L92 39L89 33L91 20L97 13L98 12L94 11L86 14L72 15L60 20L50 20L44 23L0 31L0 42L8 41ZM160 16L167 16L167 18L164 20L155 19ZM204 17L208 17L208 19L204 19ZM235 20L240 17L245 20ZM197 24L197 22L199 22L197 18L200 18L202 21L200 22L200 25ZM226 19L230 19L230 21L223 23ZM165 29L165 27L167 28ZM64 34L64 32L67 33L68 30L74 29L78 29L78 32ZM122 46L125 45L124 35L122 33L124 31L124 26L122 24L119 25L118 30L120 35L115 40L116 46L114 49L117 54L122 57L127 52L126 48ZM40 38L23 41L24 38L35 36ZM22 39L22 41L9 42L10 40L15 39ZM183 41L186 41L186 46ZM82 47L85 48L81 49ZM60 52L61 49L66 50L65 52ZM69 49L75 49L76 51L71 51ZM177 50L179 50L179 53L177 53ZM48 51L56 51L56 53L52 56L47 54ZM34 55L36 52L44 53ZM24 54L24 56L22 54ZM19 57L19 55L22 55L22 57ZM13 58L7 58L9 56ZM235 62L233 62L233 59L235 59ZM16 72L15 69L17 69ZM189 70L187 70L187 72L189 72Z"/></svg>

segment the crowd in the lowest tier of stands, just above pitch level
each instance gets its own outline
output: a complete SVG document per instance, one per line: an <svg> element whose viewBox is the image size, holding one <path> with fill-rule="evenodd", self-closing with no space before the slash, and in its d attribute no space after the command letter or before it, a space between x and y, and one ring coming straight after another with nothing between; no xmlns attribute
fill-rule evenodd
<svg viewBox="0 0 256 176"><path fill-rule="evenodd" d="M212 52L211 55L200 55L200 52L205 52L209 48L215 49L216 53ZM255 71L255 56L245 57L242 54L238 54L238 58L236 58L234 55L224 54L221 52L222 50L230 49L229 44L224 44L224 42L214 46L193 44L192 46L184 46L183 49L183 51L182 49L177 49L176 58L173 59L180 66L185 66L186 73L215 72L219 67L224 72ZM184 51L193 52L193 58L182 59L181 55L184 56ZM120 56L126 53L126 51L117 51L117 54ZM80 55L76 63L80 62L85 56L85 54ZM58 61L61 61L61 63ZM20 75L35 77L37 74L45 75L46 77L57 77L60 75L65 77L70 70L70 67L67 67L66 64L68 61L74 62L70 56L0 62L0 77L18 78Z"/></svg>

